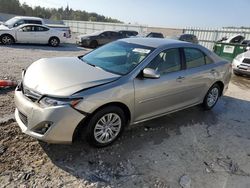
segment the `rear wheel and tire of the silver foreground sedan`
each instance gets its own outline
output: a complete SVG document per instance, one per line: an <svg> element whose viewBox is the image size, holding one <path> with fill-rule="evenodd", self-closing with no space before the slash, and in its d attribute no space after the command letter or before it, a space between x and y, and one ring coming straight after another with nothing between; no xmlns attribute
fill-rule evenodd
<svg viewBox="0 0 250 188"><path fill-rule="evenodd" d="M207 92L204 100L203 107L205 110L211 110L217 103L221 93L221 88L218 84L214 84Z"/></svg>

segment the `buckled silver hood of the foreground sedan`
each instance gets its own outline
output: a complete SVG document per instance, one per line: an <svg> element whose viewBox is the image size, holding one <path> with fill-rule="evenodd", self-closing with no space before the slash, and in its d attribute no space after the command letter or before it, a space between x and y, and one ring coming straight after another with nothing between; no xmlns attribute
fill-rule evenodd
<svg viewBox="0 0 250 188"><path fill-rule="evenodd" d="M34 62L26 70L23 84L41 94L70 96L119 77L88 65L77 57L49 58Z"/></svg>

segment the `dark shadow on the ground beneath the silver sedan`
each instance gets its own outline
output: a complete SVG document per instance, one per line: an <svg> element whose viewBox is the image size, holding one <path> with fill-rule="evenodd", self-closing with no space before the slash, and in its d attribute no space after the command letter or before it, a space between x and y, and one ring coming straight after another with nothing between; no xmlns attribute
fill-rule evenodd
<svg viewBox="0 0 250 188"><path fill-rule="evenodd" d="M167 142L167 139L181 136L183 127L200 125L204 129L205 126L204 135L209 139L209 128L218 125L221 117L232 117L232 120L228 121L238 121L233 119L238 107L250 109L250 102L224 96L211 111L204 111L201 106L195 106L129 127L121 138L106 148L94 148L84 141L77 141L72 145L40 145L57 167L73 176L90 182L109 183L135 174L134 171L140 164L134 168L120 167L122 161L136 164L138 158L145 160L147 157L139 155L135 160L132 157L135 152L148 147L157 148Z"/></svg>

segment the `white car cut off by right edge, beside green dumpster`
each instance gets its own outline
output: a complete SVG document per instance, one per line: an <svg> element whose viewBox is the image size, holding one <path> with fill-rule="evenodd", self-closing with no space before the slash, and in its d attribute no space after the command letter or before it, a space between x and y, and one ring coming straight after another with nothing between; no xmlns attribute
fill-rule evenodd
<svg viewBox="0 0 250 188"><path fill-rule="evenodd" d="M232 62L232 68L236 76L250 76L250 51L236 56Z"/></svg>

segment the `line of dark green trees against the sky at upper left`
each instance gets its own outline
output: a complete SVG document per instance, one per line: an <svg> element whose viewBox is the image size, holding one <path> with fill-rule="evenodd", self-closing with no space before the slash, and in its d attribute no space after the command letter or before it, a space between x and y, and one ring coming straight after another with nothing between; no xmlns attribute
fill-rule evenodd
<svg viewBox="0 0 250 188"><path fill-rule="evenodd" d="M122 23L117 19L105 17L97 13L89 13L81 10L66 8L44 8L40 6L31 7L26 3L21 4L19 0L0 0L0 12L16 14L20 16L35 16L52 20L79 20L93 22L113 22Z"/></svg>

